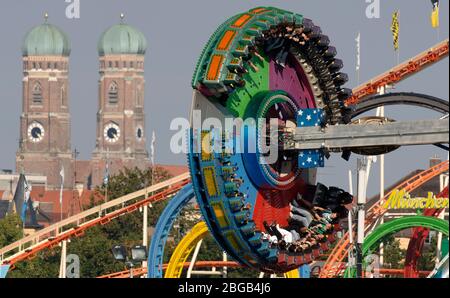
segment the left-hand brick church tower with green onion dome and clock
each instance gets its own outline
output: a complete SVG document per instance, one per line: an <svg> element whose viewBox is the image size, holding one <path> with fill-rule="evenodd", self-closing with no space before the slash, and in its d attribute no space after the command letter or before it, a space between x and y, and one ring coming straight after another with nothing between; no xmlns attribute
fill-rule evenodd
<svg viewBox="0 0 450 298"><path fill-rule="evenodd" d="M66 34L46 21L25 37L23 47L23 101L18 172L47 176L47 186L72 188L72 152L68 73L70 45Z"/></svg>

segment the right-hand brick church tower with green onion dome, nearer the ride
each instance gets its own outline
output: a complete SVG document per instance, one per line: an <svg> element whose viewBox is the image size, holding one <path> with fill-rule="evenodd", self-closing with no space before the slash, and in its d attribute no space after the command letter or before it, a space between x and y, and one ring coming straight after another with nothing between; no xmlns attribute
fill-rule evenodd
<svg viewBox="0 0 450 298"><path fill-rule="evenodd" d="M144 35L123 22L106 30L99 40L99 108L91 163L93 185L101 184L106 160L111 174L123 167L148 166L144 131L146 49Z"/></svg>

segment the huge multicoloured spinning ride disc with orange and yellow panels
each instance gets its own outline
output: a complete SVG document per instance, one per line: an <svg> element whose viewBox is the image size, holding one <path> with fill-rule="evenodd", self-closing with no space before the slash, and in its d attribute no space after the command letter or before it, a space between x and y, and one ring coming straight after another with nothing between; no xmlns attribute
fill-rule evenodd
<svg viewBox="0 0 450 298"><path fill-rule="evenodd" d="M249 267L288 272L327 249L324 243L311 254L292 255L262 239L264 221L287 226L289 203L299 193L308 195L316 168L323 166L319 151L299 154L273 145L280 137L264 124L276 123L282 132L348 122L344 100L351 91L341 87L347 75L335 56L329 38L311 20L260 7L223 23L198 61L192 82L192 182L217 242ZM230 129L229 119L245 125Z"/></svg>

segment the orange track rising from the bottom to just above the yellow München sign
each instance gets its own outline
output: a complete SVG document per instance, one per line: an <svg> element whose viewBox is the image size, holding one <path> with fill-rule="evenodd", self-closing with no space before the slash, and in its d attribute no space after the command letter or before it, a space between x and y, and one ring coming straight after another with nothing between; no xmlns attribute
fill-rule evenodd
<svg viewBox="0 0 450 298"><path fill-rule="evenodd" d="M448 171L448 165L449 162L444 161L434 167L429 168L428 170L422 171L421 173L415 175L412 178L407 179L403 183L397 185L393 190L395 189L403 189L406 192L411 192L414 189L418 188L419 186L423 185L427 181L431 180L432 178ZM372 226L377 222L377 219L384 215L387 210L384 209L383 203L386 202L386 200L389 198L390 194L392 193L391 190L388 192L382 200L380 200L378 203L374 204L369 210L367 211L366 216L366 231L370 230ZM341 264L344 261L344 259L347 257L348 250L350 248L350 240L349 240L349 234L348 232L345 233L345 235L340 239L340 241L336 244L336 246L331 251L323 269L320 272L321 278L333 278L335 276L338 276L340 272L345 269Z"/></svg>

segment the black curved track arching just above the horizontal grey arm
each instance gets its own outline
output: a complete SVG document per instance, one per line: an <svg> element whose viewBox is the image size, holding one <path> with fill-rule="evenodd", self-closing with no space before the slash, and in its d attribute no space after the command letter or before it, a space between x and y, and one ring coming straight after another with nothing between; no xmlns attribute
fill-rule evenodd
<svg viewBox="0 0 450 298"><path fill-rule="evenodd" d="M384 95L371 96L358 103L352 113L355 118L365 112L381 106L389 105L413 105L434 110L439 113L448 114L449 105L447 100L434 96L412 92L388 93Z"/></svg>

